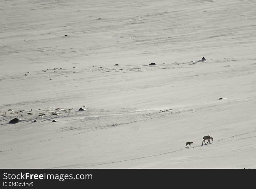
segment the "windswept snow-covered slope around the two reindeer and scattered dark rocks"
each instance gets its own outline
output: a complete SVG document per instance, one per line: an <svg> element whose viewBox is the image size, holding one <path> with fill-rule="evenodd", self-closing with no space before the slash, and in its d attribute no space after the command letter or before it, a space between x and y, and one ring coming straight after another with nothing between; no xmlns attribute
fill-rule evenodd
<svg viewBox="0 0 256 189"><path fill-rule="evenodd" d="M255 1L7 0L0 23L0 168L256 168Z"/></svg>

